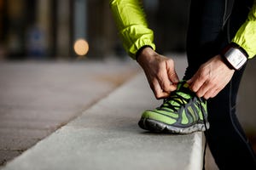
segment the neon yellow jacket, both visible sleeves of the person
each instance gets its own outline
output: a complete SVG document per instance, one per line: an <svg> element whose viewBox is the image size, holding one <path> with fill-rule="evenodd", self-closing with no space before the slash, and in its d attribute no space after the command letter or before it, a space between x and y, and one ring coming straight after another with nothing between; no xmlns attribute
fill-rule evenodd
<svg viewBox="0 0 256 170"><path fill-rule="evenodd" d="M148 28L147 20L139 0L111 0L110 8L119 30L125 51L135 59L143 46L155 50L154 32ZM231 42L247 51L249 59L256 54L256 0L247 20L236 32Z"/></svg>

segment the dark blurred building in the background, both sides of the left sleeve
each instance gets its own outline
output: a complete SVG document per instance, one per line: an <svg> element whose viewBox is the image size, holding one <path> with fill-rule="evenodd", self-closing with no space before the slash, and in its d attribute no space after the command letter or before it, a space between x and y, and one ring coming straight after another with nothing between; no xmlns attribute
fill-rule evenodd
<svg viewBox="0 0 256 170"><path fill-rule="evenodd" d="M143 3L158 50L184 50L189 3ZM0 38L0 59L72 59L80 38L88 58L125 54L106 0L0 0Z"/></svg>

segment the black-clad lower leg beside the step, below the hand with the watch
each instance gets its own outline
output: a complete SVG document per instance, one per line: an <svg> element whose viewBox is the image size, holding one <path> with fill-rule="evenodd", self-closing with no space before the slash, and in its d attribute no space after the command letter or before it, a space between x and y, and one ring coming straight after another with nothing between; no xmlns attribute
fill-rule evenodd
<svg viewBox="0 0 256 170"><path fill-rule="evenodd" d="M237 71L230 83L208 100L211 127L207 142L220 169L256 168L253 149L236 118L236 94L243 70Z"/></svg>

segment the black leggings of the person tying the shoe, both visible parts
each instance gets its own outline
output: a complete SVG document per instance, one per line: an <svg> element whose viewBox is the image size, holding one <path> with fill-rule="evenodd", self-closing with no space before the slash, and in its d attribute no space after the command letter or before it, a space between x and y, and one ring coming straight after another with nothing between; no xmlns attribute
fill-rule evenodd
<svg viewBox="0 0 256 170"><path fill-rule="evenodd" d="M185 80L230 42L252 4L253 0L191 0ZM227 86L207 101L207 143L220 169L256 169L255 154L236 118L236 95L244 69L236 71Z"/></svg>

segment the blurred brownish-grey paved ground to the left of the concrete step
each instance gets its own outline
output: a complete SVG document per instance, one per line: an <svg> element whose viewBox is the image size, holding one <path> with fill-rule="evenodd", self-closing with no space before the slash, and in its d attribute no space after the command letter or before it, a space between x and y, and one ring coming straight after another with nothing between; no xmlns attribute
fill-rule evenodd
<svg viewBox="0 0 256 170"><path fill-rule="evenodd" d="M1 62L0 166L137 74L133 61Z"/></svg>

